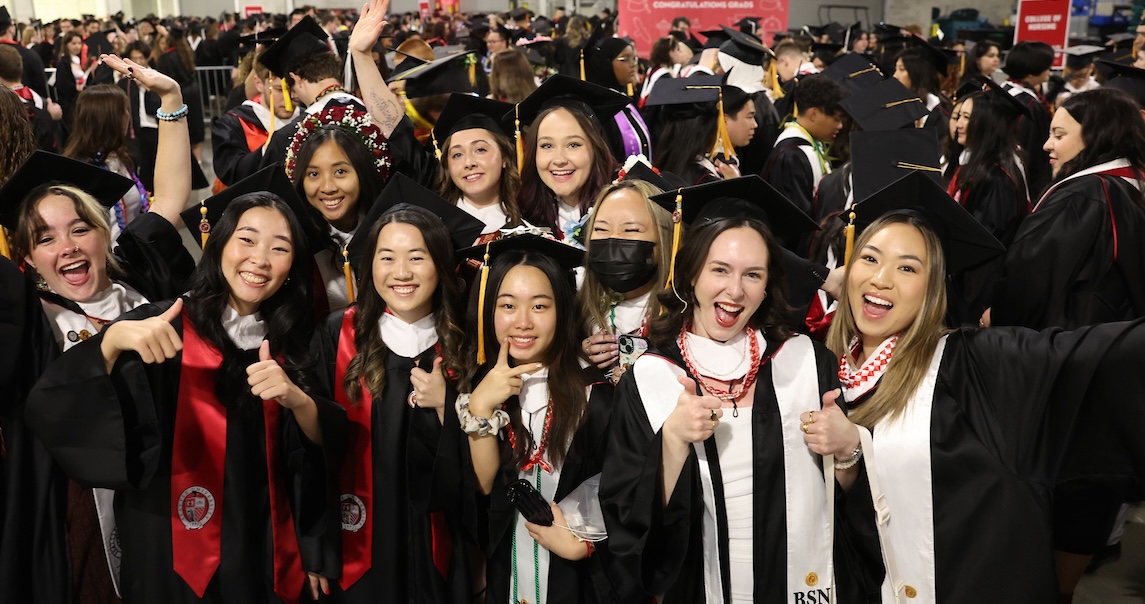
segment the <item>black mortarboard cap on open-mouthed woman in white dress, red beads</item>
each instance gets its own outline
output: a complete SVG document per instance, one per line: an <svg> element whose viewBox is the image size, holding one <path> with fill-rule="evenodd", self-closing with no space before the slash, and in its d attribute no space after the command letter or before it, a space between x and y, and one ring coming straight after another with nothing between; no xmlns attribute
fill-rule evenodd
<svg viewBox="0 0 1145 604"><path fill-rule="evenodd" d="M758 175L670 190L654 196L652 200L674 212L677 194L682 198L684 222L693 227L720 218L742 217L764 222L780 237L819 230L815 221Z"/></svg>

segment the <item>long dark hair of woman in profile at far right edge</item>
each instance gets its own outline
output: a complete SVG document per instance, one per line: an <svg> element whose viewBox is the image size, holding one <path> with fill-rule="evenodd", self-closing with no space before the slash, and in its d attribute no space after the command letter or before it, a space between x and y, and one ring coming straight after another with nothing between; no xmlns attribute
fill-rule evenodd
<svg viewBox="0 0 1145 604"><path fill-rule="evenodd" d="M1129 160L1139 175L1145 174L1145 121L1128 94L1098 88L1072 95L1059 109L1081 125L1085 149L1061 166L1058 181L1119 158Z"/></svg>

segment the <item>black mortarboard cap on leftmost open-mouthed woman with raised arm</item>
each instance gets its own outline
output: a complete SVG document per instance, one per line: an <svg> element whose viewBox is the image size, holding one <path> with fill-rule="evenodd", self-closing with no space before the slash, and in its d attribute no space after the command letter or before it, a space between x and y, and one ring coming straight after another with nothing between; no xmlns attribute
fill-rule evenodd
<svg viewBox="0 0 1145 604"><path fill-rule="evenodd" d="M81 189L109 208L135 185L131 178L98 166L47 151L34 151L0 188L0 224L15 231L21 205L29 193L46 184Z"/></svg>

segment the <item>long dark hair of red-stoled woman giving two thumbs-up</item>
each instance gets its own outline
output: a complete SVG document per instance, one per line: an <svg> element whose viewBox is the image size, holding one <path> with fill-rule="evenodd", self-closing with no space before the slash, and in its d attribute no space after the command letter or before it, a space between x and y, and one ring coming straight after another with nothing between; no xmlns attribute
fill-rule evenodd
<svg viewBox="0 0 1145 604"><path fill-rule="evenodd" d="M211 229L203 247L203 259L191 275L185 300L187 312L199 335L222 353L215 395L229 408L250 408L258 399L246 383L246 367L253 361L250 352L235 345L222 325L223 310L230 300L230 286L222 273L223 249L235 235L238 221L253 208L273 209L290 225L294 259L286 283L259 305L267 324L270 353L284 357L283 368L295 384L303 384L300 368L308 364L310 335L314 333L314 262L302 253L306 235L290 206L268 192L248 193L227 205L222 217Z"/></svg>

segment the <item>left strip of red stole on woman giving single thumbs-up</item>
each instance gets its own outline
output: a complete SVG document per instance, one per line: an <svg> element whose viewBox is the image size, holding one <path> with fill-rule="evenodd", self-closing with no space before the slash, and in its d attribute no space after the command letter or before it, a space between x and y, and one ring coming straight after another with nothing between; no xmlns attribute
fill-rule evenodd
<svg viewBox="0 0 1145 604"><path fill-rule="evenodd" d="M357 355L354 345L354 316L357 307L346 309L342 328L338 334L338 357L334 361L334 400L346 410L349 421L349 451L339 477L339 498L342 517L342 589L349 589L373 564L373 434L371 412L373 400L365 380L362 403L355 405L346 395L342 383L346 368Z"/></svg>

